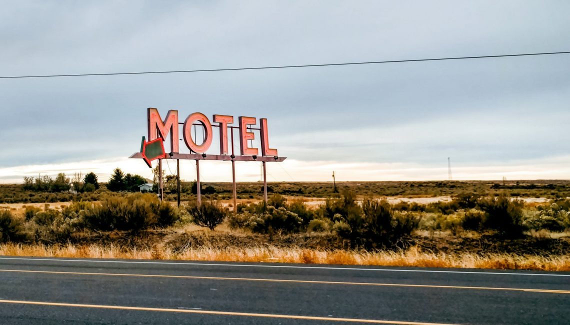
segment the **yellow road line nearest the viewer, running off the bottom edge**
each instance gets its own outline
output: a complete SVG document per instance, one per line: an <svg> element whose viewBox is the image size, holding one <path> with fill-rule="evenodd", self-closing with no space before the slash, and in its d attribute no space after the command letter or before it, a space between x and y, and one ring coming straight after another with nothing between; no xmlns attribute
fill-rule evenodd
<svg viewBox="0 0 570 325"><path fill-rule="evenodd" d="M402 322L399 320L337 318L337 317L280 315L280 314L258 314L255 312L234 312L234 311L214 311L214 310L188 310L188 309L175 309L175 308L110 306L110 305L105 305L105 304L79 304L79 303L39 302L39 301L25 301L25 300L0 300L0 303L32 304L32 305L40 305L40 306L59 306L59 307L103 308L103 309L117 309L117 310L184 312L186 314L250 316L250 317L286 318L286 319L303 319L303 320L326 320L329 322L352 322L352 323L398 324L398 325L454 325L454 324L443 324L443 323Z"/></svg>

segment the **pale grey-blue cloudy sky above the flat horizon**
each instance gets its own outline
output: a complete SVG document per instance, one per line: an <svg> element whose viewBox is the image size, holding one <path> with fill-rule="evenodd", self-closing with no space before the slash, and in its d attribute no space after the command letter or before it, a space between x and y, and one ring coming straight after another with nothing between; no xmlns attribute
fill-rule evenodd
<svg viewBox="0 0 570 325"><path fill-rule="evenodd" d="M0 76L570 51L568 1L6 1ZM266 117L270 181L570 178L570 55L0 79L0 182L119 166L146 108ZM181 143L181 148L184 148ZM205 181L231 181L204 162ZM172 162L167 173L176 173ZM259 163L238 180L259 180ZM193 161L182 177L196 178Z"/></svg>

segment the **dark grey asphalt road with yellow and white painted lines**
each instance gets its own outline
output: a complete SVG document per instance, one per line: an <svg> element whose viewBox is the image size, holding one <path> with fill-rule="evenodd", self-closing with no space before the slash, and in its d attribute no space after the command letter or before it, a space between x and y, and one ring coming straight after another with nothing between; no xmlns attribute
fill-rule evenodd
<svg viewBox="0 0 570 325"><path fill-rule="evenodd" d="M570 324L570 273L0 257L0 324Z"/></svg>

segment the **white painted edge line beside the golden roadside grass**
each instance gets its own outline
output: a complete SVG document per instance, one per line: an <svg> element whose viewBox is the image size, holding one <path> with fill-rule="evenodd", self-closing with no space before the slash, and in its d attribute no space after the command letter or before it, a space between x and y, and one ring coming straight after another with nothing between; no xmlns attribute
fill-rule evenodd
<svg viewBox="0 0 570 325"><path fill-rule="evenodd" d="M63 259L63 258L26 258L26 257L0 257L22 261L50 261L50 262L86 262L86 263L127 263L151 265L192 265L192 266L227 266L227 267L269 267L282 269L316 269L316 270L347 270L347 271L382 271L382 272L415 272L415 273L457 273L457 274L484 274L484 275L526 275L537 277L570 277L570 274L552 273L515 273L515 272L476 272L476 271L443 271L443 270L406 270L406 269L366 269L360 267L327 267L327 266L298 266L298 265L249 265L225 263L193 263L193 262L149 262L149 261L107 261L104 259Z"/></svg>

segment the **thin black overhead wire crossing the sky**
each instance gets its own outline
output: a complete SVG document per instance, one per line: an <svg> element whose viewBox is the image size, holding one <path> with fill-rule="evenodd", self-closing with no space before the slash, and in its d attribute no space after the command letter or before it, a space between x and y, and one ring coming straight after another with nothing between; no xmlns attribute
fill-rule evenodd
<svg viewBox="0 0 570 325"><path fill-rule="evenodd" d="M70 74L70 75L31 75L31 76L3 76L0 79L11 78L52 78L52 77L78 77L78 76L116 76L116 75L146 75L146 74L180 74L186 72L212 72L212 71L238 71L238 70L263 70L263 69L283 69L283 68L310 68L310 67L332 67L332 66L355 66L357 64L379 64L379 63L402 63L402 62L422 62L422 61L443 61L443 60L465 60L465 59L488 59L507 58L512 56L536 56L551 54L570 54L564 52L545 53L525 53L525 54L504 54L504 55L482 55L482 56L457 56L454 58L431 58L412 60L388 60L370 62L347 62L347 63L325 63L325 64L300 64L296 66L270 66L270 67L249 67L249 68L226 68L226 69L202 69L202 70L178 70L178 71L145 71L145 72L112 72L108 74Z"/></svg>

